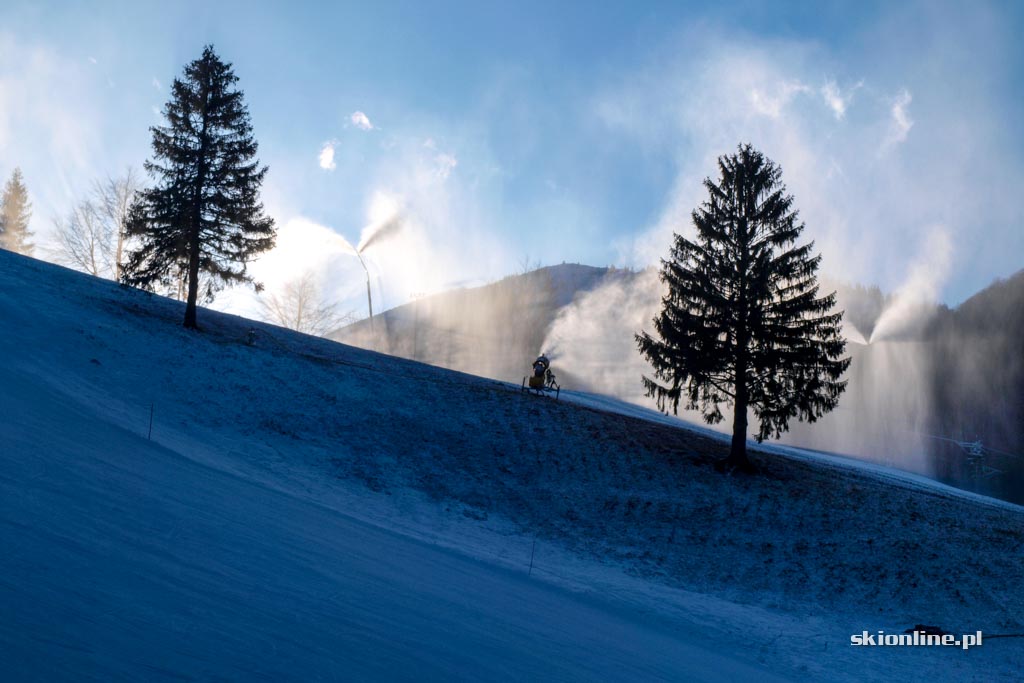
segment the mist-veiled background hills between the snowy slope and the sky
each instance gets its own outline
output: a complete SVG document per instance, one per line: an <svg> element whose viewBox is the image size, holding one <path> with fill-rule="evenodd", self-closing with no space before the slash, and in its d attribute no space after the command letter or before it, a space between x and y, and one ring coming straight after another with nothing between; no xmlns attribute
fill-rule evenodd
<svg viewBox="0 0 1024 683"><path fill-rule="evenodd" d="M821 291L845 311L848 388L834 413L791 424L783 442L1024 502L1024 272L954 309L828 279ZM564 387L650 405L633 335L650 329L662 296L654 269L562 264L426 297L332 337L513 382L544 351Z"/></svg>

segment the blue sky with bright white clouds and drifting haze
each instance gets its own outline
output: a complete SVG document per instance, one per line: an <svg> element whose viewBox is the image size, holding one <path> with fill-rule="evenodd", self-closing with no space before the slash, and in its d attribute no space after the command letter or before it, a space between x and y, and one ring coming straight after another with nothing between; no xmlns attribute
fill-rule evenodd
<svg viewBox="0 0 1024 683"><path fill-rule="evenodd" d="M822 271L950 305L1024 267L1024 4L1015 2L5 2L0 176L32 228L151 156L214 45L252 115L278 247L375 308L528 265L644 267L716 160L751 142ZM221 308L252 313L248 290Z"/></svg>

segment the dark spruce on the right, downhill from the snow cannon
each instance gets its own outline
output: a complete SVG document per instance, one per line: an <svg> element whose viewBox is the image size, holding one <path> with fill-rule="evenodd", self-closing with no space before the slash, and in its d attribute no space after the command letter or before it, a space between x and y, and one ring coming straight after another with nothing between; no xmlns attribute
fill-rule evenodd
<svg viewBox="0 0 1024 683"><path fill-rule="evenodd" d="M709 198L692 219L696 238L679 234L662 261L668 286L654 318L656 336L636 336L653 368L647 395L667 412L680 400L710 424L733 408L728 464L749 468L748 409L757 440L778 437L792 418L814 422L836 408L850 365L842 358L842 312L835 293L820 295L820 255L797 246L804 229L785 194L782 171L742 144L718 160L721 177L705 180Z"/></svg>

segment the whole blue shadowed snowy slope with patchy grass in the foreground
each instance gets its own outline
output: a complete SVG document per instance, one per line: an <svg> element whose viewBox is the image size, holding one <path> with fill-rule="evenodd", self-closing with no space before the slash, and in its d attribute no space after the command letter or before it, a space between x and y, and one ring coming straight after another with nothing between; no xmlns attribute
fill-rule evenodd
<svg viewBox="0 0 1024 683"><path fill-rule="evenodd" d="M1017 509L786 457L725 477L707 434L200 313L0 252L4 680L1024 666L849 646L1021 631Z"/></svg>

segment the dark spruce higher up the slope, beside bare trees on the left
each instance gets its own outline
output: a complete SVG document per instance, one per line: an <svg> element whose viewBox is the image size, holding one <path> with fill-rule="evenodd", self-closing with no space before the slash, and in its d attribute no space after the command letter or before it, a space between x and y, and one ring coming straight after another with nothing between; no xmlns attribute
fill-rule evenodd
<svg viewBox="0 0 1024 683"><path fill-rule="evenodd" d="M267 168L256 159L249 112L234 87L231 65L212 46L187 65L164 106L166 125L151 128L155 180L130 212L122 281L153 290L187 289L184 326L195 329L200 282L204 297L237 283L253 283L247 264L273 247L273 220L263 214L259 188Z"/></svg>

